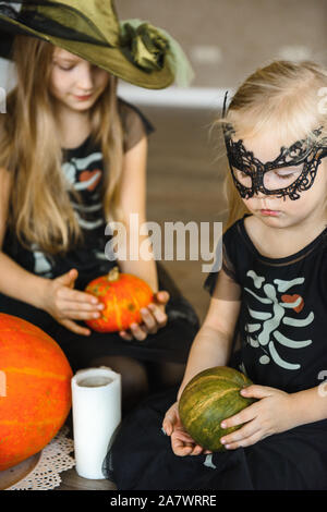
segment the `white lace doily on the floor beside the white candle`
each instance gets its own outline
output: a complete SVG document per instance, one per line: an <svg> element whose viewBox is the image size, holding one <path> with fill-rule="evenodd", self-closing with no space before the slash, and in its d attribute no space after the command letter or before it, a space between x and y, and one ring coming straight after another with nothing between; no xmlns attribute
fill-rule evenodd
<svg viewBox="0 0 327 512"><path fill-rule="evenodd" d="M74 441L69 439L69 428L63 427L52 441L47 444L34 470L8 490L50 490L61 484L60 473L71 470L75 465L70 455L74 449Z"/></svg>

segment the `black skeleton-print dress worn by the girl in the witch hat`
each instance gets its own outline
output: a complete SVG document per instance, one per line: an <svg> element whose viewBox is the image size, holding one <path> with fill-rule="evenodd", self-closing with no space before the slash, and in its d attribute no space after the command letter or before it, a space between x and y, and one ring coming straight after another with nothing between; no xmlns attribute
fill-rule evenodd
<svg viewBox="0 0 327 512"><path fill-rule="evenodd" d="M123 148L128 151L143 136L148 136L154 127L135 107L122 99L119 99L118 105L124 135ZM100 147L97 147L88 136L77 148L63 149L62 155L62 171L68 182L82 197L81 204L75 203L73 197L71 202L85 242L65 255L53 256L45 254L36 246L31 247L31 251L26 249L20 244L15 233L8 229L2 251L26 270L44 278L53 279L76 268L78 277L75 289L84 290L89 281L108 273L118 263L108 259L105 254L111 236L105 233L106 220L100 200L102 154ZM167 290L170 293L166 306L168 322L156 334L148 334L142 343L137 340L128 342L118 333L94 331L88 337L75 334L59 325L46 312L4 294L0 294L0 312L24 318L52 336L66 354L73 370L87 367L92 358L104 355L126 355L141 361L185 363L198 329L197 316L159 263L157 269L159 290Z"/></svg>

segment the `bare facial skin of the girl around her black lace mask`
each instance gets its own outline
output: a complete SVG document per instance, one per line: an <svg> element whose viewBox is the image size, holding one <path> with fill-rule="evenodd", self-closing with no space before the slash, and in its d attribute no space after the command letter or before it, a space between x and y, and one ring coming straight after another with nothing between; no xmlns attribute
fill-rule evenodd
<svg viewBox="0 0 327 512"><path fill-rule="evenodd" d="M272 161L280 153L280 145L274 144L271 134L255 139L244 139L244 146L253 151L261 161ZM292 169L279 169L281 175ZM295 169L294 169L295 171ZM278 179L278 178L277 178ZM280 180L280 179L278 179ZM289 196L276 197L262 192L250 199L242 199L249 210L262 222L271 228L301 225L303 222L326 221L327 158L323 159L312 186L300 192L300 198L291 200Z"/></svg>

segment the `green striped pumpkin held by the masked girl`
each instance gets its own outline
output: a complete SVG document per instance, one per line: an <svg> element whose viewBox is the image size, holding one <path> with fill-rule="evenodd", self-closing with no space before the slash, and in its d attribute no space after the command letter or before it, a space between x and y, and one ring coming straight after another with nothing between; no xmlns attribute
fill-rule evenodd
<svg viewBox="0 0 327 512"><path fill-rule="evenodd" d="M216 366L201 371L185 386L179 401L184 429L206 450L225 450L220 439L242 425L221 428L220 424L255 402L240 394L253 382L240 371Z"/></svg>

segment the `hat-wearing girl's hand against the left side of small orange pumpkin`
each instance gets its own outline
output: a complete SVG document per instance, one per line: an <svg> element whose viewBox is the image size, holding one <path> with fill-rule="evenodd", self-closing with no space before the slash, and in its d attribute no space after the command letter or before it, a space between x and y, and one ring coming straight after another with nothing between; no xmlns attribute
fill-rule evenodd
<svg viewBox="0 0 327 512"><path fill-rule="evenodd" d="M46 280L44 310L70 331L89 336L89 329L73 320L98 318L104 309L104 304L100 304L98 298L89 293L73 290L77 276L77 270L71 269L59 278Z"/></svg>

